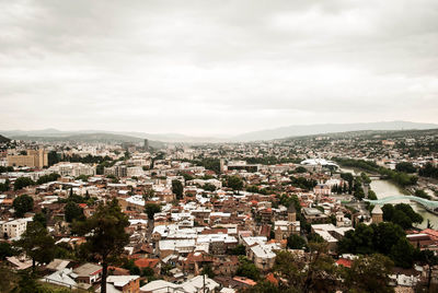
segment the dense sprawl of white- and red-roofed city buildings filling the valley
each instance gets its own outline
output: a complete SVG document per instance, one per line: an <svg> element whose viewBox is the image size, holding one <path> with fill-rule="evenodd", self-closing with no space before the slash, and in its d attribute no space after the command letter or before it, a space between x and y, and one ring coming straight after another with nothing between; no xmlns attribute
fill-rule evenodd
<svg viewBox="0 0 438 293"><path fill-rule="evenodd" d="M87 198L78 204L84 216L91 216L99 202L117 198L129 219L129 244L123 257L132 260L140 272L148 268L153 278L113 267L107 279L111 292L205 292L206 288L235 292L256 283L238 274L241 260L237 250L262 276L268 276L276 253L289 249L288 238L292 235L306 241L310 234L318 235L335 253L339 239L355 224L383 221L379 206L355 210L351 207L364 203L355 202L351 195L333 192L335 186L348 183L337 172L338 165L328 159L339 153L380 161L412 159L396 156L396 150L391 149L395 143L380 143L379 148L387 150L381 152L374 146L362 148L367 143L364 140L353 141L355 146L349 146L351 141L338 140L318 148L308 142L261 142L173 145L153 152L148 142L129 150L123 145L46 144L25 154L20 154L20 148L27 145L20 145L2 152L0 159L7 162L3 165L13 167L0 174L0 183L8 181L10 187L0 192L0 236L8 242L19 239L33 215L44 210L47 228L57 244L74 247L85 238L72 235L71 225L65 220L68 198ZM49 152L58 157L50 165ZM382 154L371 156L373 152ZM73 156L79 162L72 162ZM106 159L87 162L88 157L97 156ZM264 161L266 157L275 162ZM215 164L203 164L205 159ZM53 173L59 178L13 190L20 177L36 181ZM232 185L231 177L242 185ZM174 188L175 181L182 185L181 194ZM34 207L23 218L16 218L13 200L23 194L33 198ZM298 201L291 201L292 197ZM151 203L160 211L148 216L145 209ZM413 232L407 238L422 249L438 248L438 232L433 228ZM304 254L301 248L293 251ZM10 257L8 261L15 270L30 265L25 256ZM345 258L339 263L343 261L348 262ZM41 265L50 271L43 278L45 282L99 290L100 263L55 259ZM211 278L204 276L206 268ZM414 277L420 280L417 274ZM394 285L412 288L413 281L405 281L395 280Z"/></svg>

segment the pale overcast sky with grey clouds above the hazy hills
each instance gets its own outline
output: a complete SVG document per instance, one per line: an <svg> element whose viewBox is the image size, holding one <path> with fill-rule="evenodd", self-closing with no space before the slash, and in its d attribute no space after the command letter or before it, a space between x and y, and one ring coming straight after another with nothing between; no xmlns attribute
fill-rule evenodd
<svg viewBox="0 0 438 293"><path fill-rule="evenodd" d="M438 122L438 1L0 0L0 129Z"/></svg>

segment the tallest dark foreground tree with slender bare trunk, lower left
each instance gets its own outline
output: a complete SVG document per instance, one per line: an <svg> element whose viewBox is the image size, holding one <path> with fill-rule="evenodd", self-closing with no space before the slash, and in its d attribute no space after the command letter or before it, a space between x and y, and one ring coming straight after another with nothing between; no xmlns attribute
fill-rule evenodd
<svg viewBox="0 0 438 293"><path fill-rule="evenodd" d="M108 261L118 257L129 243L129 235L125 232L129 226L128 218L122 212L117 199L113 199L99 204L95 213L78 225L78 231L87 235L87 243L82 244L84 250L102 263L101 292L106 293Z"/></svg>

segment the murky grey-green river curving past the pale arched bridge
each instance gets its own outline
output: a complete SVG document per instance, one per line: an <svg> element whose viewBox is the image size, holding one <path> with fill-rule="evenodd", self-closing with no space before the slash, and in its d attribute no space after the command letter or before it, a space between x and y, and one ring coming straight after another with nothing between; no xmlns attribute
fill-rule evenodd
<svg viewBox="0 0 438 293"><path fill-rule="evenodd" d="M342 168L343 172L349 172L353 174L356 174L355 169L351 168ZM360 172L358 172L360 173ZM371 189L376 192L377 197L379 199L385 198L385 197L391 197L391 196L399 196L399 195L411 195L408 191L400 188L395 184L391 183L390 180L380 180L380 179L373 179L370 184ZM427 226L427 220L430 221L431 225L434 228L438 228L438 216L436 214L433 214L428 212L425 208L423 208L422 204L410 201L410 200L395 200L391 203L408 203L411 207L419 213L424 221L422 224L417 225L419 228L425 228Z"/></svg>

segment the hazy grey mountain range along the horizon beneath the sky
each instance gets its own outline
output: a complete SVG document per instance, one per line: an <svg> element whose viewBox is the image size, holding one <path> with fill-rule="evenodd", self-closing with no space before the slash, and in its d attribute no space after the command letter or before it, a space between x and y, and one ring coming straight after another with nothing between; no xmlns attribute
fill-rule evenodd
<svg viewBox="0 0 438 293"><path fill-rule="evenodd" d="M150 145L158 148L162 142L239 142L239 141L261 141L285 139L290 137L326 134L347 131L362 130L424 130L437 129L436 124L419 124L410 121L384 121L366 124L321 124L321 125L295 125L265 129L260 131L245 132L234 137L215 138L215 137L191 137L178 133L153 134L134 131L107 131L107 130L77 130L61 131L57 129L43 130L9 130L0 133L11 139L22 140L45 140L45 141L118 141L118 142L140 142L142 139L149 139Z"/></svg>

